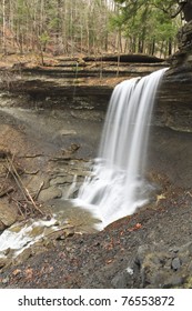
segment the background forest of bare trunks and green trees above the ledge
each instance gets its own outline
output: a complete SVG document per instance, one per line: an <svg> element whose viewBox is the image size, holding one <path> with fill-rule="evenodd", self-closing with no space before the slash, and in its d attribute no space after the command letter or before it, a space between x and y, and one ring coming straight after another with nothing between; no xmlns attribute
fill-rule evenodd
<svg viewBox="0 0 192 311"><path fill-rule="evenodd" d="M1 0L0 53L148 53L166 58L176 50L182 24L176 2Z"/></svg>

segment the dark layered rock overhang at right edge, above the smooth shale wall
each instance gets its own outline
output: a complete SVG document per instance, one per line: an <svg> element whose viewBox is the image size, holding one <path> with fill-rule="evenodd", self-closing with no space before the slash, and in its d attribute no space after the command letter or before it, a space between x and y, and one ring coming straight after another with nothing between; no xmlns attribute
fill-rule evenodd
<svg viewBox="0 0 192 311"><path fill-rule="evenodd" d="M176 131L192 132L192 1L183 7L186 22L178 33L179 50L170 60L159 92L161 122Z"/></svg>

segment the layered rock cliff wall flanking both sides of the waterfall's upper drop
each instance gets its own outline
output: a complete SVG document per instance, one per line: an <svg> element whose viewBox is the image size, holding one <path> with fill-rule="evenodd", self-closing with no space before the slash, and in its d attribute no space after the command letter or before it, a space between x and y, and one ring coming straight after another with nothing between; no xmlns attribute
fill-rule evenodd
<svg viewBox="0 0 192 311"><path fill-rule="evenodd" d="M122 57L120 63L115 57L104 60L60 58L57 64L44 68L29 68L26 63L12 66L7 77L1 70L1 106L48 109L50 113L62 109L75 118L80 127L84 127L85 121L98 123L100 130L94 134L90 132L85 144L83 138L85 148L78 153L79 157L95 157L114 86L170 67L156 94L149 167L161 170L175 184L189 188L192 184L192 52L189 48L192 30L189 24L183 30L188 36L181 36L179 52L169 61L143 56ZM81 146L81 130L77 140Z"/></svg>

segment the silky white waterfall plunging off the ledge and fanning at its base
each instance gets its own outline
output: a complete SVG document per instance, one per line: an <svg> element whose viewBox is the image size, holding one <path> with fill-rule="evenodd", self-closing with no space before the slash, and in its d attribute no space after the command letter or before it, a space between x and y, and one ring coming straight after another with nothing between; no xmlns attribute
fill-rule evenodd
<svg viewBox="0 0 192 311"><path fill-rule="evenodd" d="M166 69L121 82L112 93L99 157L75 199L105 227L149 201L144 179L149 130L156 89Z"/></svg>

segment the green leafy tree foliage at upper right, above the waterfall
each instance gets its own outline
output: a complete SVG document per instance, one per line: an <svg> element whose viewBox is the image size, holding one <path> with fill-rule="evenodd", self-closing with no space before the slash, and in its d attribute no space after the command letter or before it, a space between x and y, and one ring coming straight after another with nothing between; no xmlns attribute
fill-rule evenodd
<svg viewBox="0 0 192 311"><path fill-rule="evenodd" d="M169 56L176 49L181 27L180 7L175 0L115 0L118 14L112 24L122 33L131 52ZM172 19L174 17L174 19Z"/></svg>

